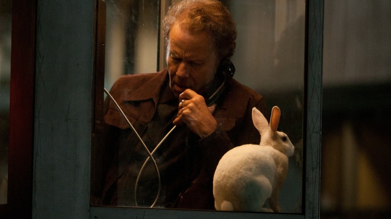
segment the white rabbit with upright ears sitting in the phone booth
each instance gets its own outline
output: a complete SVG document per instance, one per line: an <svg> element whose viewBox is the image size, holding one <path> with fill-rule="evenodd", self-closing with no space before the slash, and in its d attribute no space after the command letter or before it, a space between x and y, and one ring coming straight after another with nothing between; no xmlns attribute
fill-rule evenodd
<svg viewBox="0 0 391 219"><path fill-rule="evenodd" d="M280 114L280 108L274 106L269 125L265 116L253 108L253 123L261 134L260 145L234 147L219 161L213 179L217 210L281 211L279 191L294 146L285 133L277 131ZM271 209L264 207L268 198Z"/></svg>

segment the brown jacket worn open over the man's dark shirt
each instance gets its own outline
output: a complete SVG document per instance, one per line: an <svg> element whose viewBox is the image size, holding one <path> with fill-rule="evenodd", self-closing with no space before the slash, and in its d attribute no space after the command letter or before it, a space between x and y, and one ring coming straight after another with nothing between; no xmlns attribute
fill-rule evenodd
<svg viewBox="0 0 391 219"><path fill-rule="evenodd" d="M159 102L161 87L167 78L167 69L157 73L124 75L110 90L137 132L141 133L152 119ZM260 142L260 134L252 122L252 108L257 107L262 113L266 113L265 101L261 95L231 79L228 88L216 102L217 107L213 114L218 122L216 131L204 139L189 138L195 139L190 144L196 145L195 148L200 151L200 157L192 159L192 162L196 162L192 165L198 165L200 168L196 174L190 174L193 178L187 178L187 181L183 182L186 185L179 193L171 195L174 198L168 200L166 207L214 209L212 182L220 158L234 146ZM102 204L116 205L112 201L115 199L113 196L121 192L115 190L117 179L129 162L132 162L132 148L129 145L135 144L138 138L132 135L126 138L126 142L112 143L118 140L117 132L129 128L129 125L109 99L105 101L105 122L109 130L108 150L111 150L115 161L107 172Z"/></svg>

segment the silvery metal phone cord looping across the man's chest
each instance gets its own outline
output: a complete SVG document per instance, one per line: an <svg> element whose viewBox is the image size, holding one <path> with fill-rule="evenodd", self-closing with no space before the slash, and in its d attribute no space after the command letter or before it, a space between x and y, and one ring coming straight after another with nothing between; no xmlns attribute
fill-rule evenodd
<svg viewBox="0 0 391 219"><path fill-rule="evenodd" d="M110 97L111 101L114 103L115 107L118 109L118 111L120 112L120 114L122 115L122 117L126 120L126 122L128 123L129 127L132 128L132 130L134 131L134 133L137 135L138 139L140 140L140 142L142 143L142 145L144 146L145 150L148 152L148 157L147 159L145 160L144 164L142 165L139 173L138 173L138 176L137 176L137 179L136 179L136 184L134 186L134 199L136 201L136 206L137 206L137 196L136 196L136 190L137 190L137 184L138 184L138 180L140 178L140 175L141 175L141 172L142 172L142 169L144 168L145 164L147 163L147 161L149 160L149 158L152 159L152 162L153 162L153 165L155 167L155 170L156 170L156 174L157 174L157 180L158 180L158 188L157 188L157 194L156 194L156 197L155 197L155 200L153 201L153 203L151 204L150 207L153 207L156 202L157 202L157 199L159 198L159 195L160 195L160 173L159 173L159 168L157 167L157 164L156 164L156 161L155 159L153 158L152 154L155 152L155 150L157 149L158 146L160 146L160 144L165 140L165 138L167 138L168 134L171 133L171 131L175 128L172 127L171 130L163 137L163 139L157 144L157 146L153 149L152 152L149 151L148 147L145 145L144 141L141 139L140 135L137 133L136 129L133 127L133 125L130 123L129 119L126 117L125 113L122 111L121 107L119 107L118 103L115 101L114 97L110 94L110 92L106 89L106 88L103 88L105 93Z"/></svg>

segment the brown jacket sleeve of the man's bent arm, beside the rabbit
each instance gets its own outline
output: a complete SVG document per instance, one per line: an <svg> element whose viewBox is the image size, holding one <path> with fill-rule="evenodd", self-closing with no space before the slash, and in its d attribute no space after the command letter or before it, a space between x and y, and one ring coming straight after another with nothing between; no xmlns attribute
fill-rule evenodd
<svg viewBox="0 0 391 219"><path fill-rule="evenodd" d="M222 124L209 136L196 142L202 153L201 172L177 198L176 207L214 209L213 176L221 157L230 149L245 143L259 143L260 134L252 122L252 108L266 113L262 96L251 99L234 127L224 130ZM232 119L228 119L232 120ZM229 123L230 123L229 121Z"/></svg>

